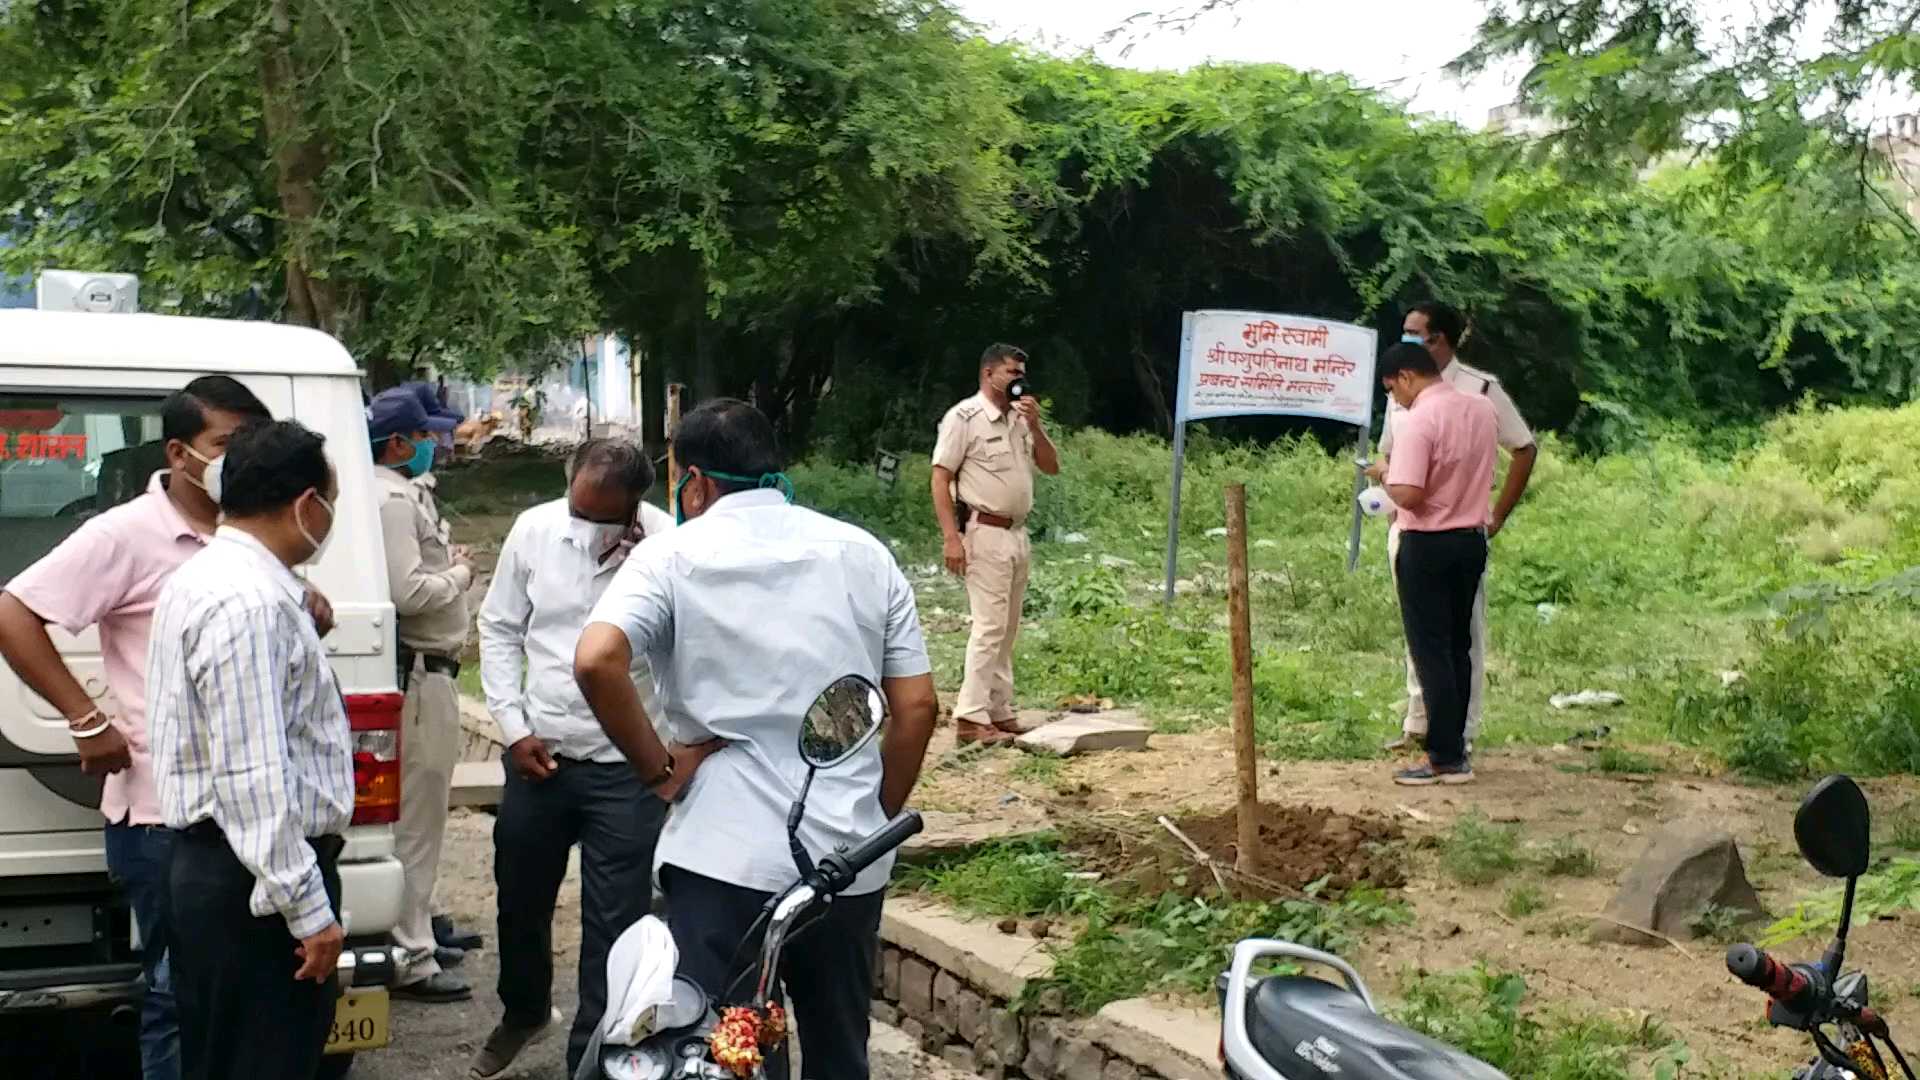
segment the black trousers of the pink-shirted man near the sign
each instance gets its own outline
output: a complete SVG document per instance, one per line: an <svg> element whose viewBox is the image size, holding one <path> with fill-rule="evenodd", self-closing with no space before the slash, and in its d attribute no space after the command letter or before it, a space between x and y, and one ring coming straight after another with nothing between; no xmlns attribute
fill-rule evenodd
<svg viewBox="0 0 1920 1080"><path fill-rule="evenodd" d="M1427 696L1427 759L1467 761L1467 703L1473 694L1473 596L1486 573L1486 532L1402 532L1394 575L1407 653Z"/></svg>

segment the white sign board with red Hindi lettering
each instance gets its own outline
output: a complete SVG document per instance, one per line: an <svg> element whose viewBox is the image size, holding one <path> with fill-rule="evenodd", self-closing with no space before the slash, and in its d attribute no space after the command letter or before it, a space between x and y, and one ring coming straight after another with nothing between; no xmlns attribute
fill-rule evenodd
<svg viewBox="0 0 1920 1080"><path fill-rule="evenodd" d="M1192 344L1181 365L1181 417L1317 417L1367 427L1373 400L1375 331L1352 323L1194 311Z"/></svg>

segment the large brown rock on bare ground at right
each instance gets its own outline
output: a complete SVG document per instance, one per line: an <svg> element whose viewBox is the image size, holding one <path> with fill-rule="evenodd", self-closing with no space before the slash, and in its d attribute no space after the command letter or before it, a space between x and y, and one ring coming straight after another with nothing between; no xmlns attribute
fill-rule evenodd
<svg viewBox="0 0 1920 1080"><path fill-rule="evenodd" d="M1764 907L1732 834L1701 822L1680 821L1653 834L1620 890L1594 920L1592 940L1622 945L1663 945L1668 938L1693 938L1693 922L1707 907L1743 911L1764 919Z"/></svg>

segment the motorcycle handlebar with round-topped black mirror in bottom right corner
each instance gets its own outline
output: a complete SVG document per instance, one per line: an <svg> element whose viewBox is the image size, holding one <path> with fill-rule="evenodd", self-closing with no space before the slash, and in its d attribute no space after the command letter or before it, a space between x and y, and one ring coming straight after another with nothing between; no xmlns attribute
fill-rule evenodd
<svg viewBox="0 0 1920 1080"><path fill-rule="evenodd" d="M1847 930L1853 926L1853 892L1868 867L1870 838L1872 815L1859 784L1847 776L1828 776L1814 784L1793 815L1793 840L1812 869L1847 880L1834 944L1818 963L1797 965L1784 965L1755 945L1726 949L1726 970L1766 994L1766 1022L1805 1032L1820 1051L1820 1057L1793 1072L1795 1080L1891 1080L1893 1072L1874 1040L1885 1043L1907 1080L1914 1080L1885 1017L1866 1003L1866 972L1843 969ZM1834 1028L1837 1043L1826 1028Z"/></svg>

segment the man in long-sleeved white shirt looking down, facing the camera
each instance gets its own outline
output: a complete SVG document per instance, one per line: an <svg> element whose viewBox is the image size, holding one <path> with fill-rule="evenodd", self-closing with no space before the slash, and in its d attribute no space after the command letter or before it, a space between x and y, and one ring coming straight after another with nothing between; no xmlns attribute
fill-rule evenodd
<svg viewBox="0 0 1920 1080"><path fill-rule="evenodd" d="M574 646L593 601L634 544L674 527L641 498L653 463L639 446L595 438L566 467L566 498L513 523L480 607L480 684L507 740L507 788L493 824L499 888L499 999L505 1017L472 1074L499 1076L553 1015L553 907L580 844L580 1009L566 1045L572 1076L607 1009L607 949L653 901L653 844L666 817L593 721L574 684ZM643 661L628 673L651 698Z"/></svg>

